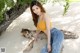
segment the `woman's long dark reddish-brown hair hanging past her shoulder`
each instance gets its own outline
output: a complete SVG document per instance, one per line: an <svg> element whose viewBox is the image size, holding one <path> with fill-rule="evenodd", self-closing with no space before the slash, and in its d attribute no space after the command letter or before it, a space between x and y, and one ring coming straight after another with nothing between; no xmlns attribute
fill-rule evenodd
<svg viewBox="0 0 80 53"><path fill-rule="evenodd" d="M32 2L31 2L30 10L31 10L31 13L32 13L34 25L37 27L37 22L38 22L38 17L39 17L39 16L38 16L37 14L35 14L35 13L33 12L33 10L32 10L32 7L33 7L34 5L40 7L41 12L44 12L44 13L45 13L45 10L44 10L43 6L41 5L41 3L39 3L38 1L32 1Z"/></svg>

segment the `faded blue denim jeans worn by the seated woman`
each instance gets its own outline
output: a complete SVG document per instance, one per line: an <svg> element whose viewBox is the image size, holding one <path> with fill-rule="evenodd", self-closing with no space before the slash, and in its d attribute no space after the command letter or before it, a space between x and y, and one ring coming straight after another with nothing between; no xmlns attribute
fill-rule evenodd
<svg viewBox="0 0 80 53"><path fill-rule="evenodd" d="M51 29L50 33L51 33L51 47L52 47L51 53L60 53L62 48L62 43L64 40L64 35L60 30L56 28ZM48 53L47 45L41 49L41 53Z"/></svg>

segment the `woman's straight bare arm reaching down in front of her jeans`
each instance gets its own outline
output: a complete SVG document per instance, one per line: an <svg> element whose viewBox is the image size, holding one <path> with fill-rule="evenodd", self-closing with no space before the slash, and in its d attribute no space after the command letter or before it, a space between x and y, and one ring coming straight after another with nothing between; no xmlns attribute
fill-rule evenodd
<svg viewBox="0 0 80 53"><path fill-rule="evenodd" d="M48 15L45 15L45 21L46 21L46 33L47 33L47 38L48 38L48 52L51 52L51 44L50 44L50 40L51 40L51 34L50 34L50 17Z"/></svg>

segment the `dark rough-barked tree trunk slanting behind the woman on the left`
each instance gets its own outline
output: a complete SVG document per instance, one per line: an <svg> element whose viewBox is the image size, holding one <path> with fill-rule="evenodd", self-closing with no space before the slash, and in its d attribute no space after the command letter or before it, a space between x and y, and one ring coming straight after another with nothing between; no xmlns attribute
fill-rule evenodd
<svg viewBox="0 0 80 53"><path fill-rule="evenodd" d="M6 28L12 23L13 20L15 20L18 16L20 16L26 8L29 6L29 4L21 5L15 5L13 8L11 8L9 11L6 11L4 16L4 21L0 24L0 35L3 31L6 30Z"/></svg>

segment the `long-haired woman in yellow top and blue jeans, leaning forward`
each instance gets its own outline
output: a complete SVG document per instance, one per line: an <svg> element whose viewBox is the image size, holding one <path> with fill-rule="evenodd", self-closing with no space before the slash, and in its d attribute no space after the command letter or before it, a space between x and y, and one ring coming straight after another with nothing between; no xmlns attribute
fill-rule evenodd
<svg viewBox="0 0 80 53"><path fill-rule="evenodd" d="M63 33L51 27L50 17L38 1L31 2L30 10L37 28L36 37L41 31L47 36L47 45L42 48L41 53L60 53L64 39Z"/></svg>

